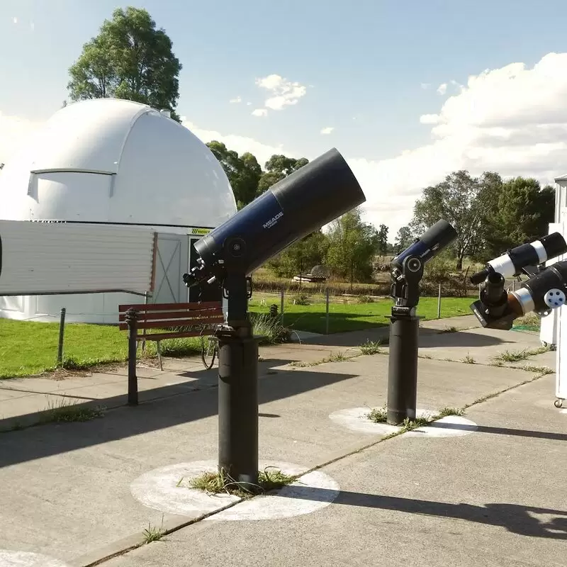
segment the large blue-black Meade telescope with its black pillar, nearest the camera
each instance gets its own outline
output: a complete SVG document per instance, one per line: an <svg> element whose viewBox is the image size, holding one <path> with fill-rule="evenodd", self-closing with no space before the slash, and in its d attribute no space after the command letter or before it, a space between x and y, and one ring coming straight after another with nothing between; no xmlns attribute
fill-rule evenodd
<svg viewBox="0 0 567 567"><path fill-rule="evenodd" d="M228 298L218 338L218 468L243 488L258 482L258 344L248 314L249 274L292 242L364 203L333 148L293 172L195 243L186 286L218 280Z"/></svg>

